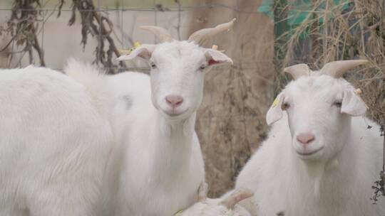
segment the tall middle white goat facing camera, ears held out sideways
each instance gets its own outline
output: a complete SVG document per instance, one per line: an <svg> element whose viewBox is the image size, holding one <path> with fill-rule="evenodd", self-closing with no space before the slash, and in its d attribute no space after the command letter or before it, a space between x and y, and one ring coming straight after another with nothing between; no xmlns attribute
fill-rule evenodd
<svg viewBox="0 0 385 216"><path fill-rule="evenodd" d="M140 45L118 60L140 57L150 76L123 72L108 77L113 94L113 127L120 146L108 165L111 185L106 215L170 216L193 205L205 178L195 134L205 73L232 63L218 50L201 48L207 36L227 31L234 21L197 31L189 41L175 41L163 28L145 26L161 41Z"/></svg>

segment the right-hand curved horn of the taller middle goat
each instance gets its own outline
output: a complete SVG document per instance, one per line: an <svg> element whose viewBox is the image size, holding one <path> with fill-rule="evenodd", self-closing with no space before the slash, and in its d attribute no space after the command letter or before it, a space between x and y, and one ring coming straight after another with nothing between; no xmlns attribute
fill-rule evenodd
<svg viewBox="0 0 385 216"><path fill-rule="evenodd" d="M228 31L234 25L236 18L233 18L232 21L228 23L222 23L214 28L203 28L198 31L195 31L189 38L188 41L195 42L197 44L202 44L206 38L210 38L215 36L217 33L221 33L222 31Z"/></svg>

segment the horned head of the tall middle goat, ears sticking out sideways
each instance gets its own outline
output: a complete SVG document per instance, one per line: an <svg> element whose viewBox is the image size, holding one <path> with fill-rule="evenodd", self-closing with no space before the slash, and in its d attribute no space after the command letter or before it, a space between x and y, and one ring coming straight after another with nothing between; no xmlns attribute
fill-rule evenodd
<svg viewBox="0 0 385 216"><path fill-rule="evenodd" d="M143 26L160 41L157 45L144 44L123 55L118 60L139 57L151 67L152 101L168 119L184 119L200 106L205 73L215 65L232 63L224 53L216 49L202 48L200 43L210 36L229 30L235 19L215 28L205 28L193 33L188 41L176 41L164 28Z"/></svg>

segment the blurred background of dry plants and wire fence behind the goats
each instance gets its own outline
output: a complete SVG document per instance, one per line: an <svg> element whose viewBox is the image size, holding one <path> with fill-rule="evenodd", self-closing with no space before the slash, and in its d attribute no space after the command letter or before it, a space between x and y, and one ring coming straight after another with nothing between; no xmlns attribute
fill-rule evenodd
<svg viewBox="0 0 385 216"><path fill-rule="evenodd" d="M234 61L207 74L197 114L210 196L232 188L267 136L265 114L289 82L288 65L317 70L332 60L370 60L346 78L363 90L369 117L385 125L385 0L1 0L0 68L61 70L73 57L111 74L148 72L140 60L114 61L135 42L157 43L139 26L162 26L185 40L232 18L232 31L204 44Z"/></svg>

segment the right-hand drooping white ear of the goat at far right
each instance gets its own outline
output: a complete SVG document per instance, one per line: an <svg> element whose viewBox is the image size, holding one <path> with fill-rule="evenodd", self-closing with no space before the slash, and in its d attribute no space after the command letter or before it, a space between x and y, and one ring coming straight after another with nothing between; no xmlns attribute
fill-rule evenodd
<svg viewBox="0 0 385 216"><path fill-rule="evenodd" d="M341 113L346 113L351 116L361 116L366 112L366 104L354 92L354 90L344 90L344 97L342 98Z"/></svg>

